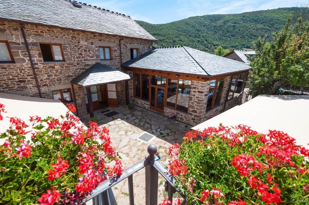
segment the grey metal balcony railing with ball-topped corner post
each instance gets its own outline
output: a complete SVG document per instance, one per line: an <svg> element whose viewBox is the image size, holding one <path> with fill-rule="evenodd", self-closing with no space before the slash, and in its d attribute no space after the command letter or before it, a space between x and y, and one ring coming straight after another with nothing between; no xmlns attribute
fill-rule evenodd
<svg viewBox="0 0 309 205"><path fill-rule="evenodd" d="M111 187L115 186L122 180L128 179L129 186L129 202L128 204L134 205L134 194L133 194L133 174L140 169L145 168L145 191L146 191L146 205L157 205L158 204L158 176L161 174L168 182L167 195L168 200L173 200L173 193L177 191L183 198L182 204L187 204L185 196L180 190L175 187L175 180L173 176L168 172L168 169L161 164L159 158L155 155L157 147L154 144L150 144L147 148L149 155L145 159L138 163L130 166L129 168L122 171L120 176L114 176L106 179L100 183L90 195L83 200L83 203L92 199L93 205L115 205L117 204L116 198L112 192Z"/></svg>

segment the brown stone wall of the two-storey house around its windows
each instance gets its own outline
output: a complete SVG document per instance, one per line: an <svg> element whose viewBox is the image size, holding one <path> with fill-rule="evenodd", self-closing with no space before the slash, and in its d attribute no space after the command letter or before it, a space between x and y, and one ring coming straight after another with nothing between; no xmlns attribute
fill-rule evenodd
<svg viewBox="0 0 309 205"><path fill-rule="evenodd" d="M0 40L9 42L15 63L0 64L0 92L38 97L38 89L30 65L20 25L2 21ZM52 90L71 88L70 81L96 62L121 69L119 40L122 37L71 31L25 24L24 28L32 60L44 98L53 98ZM39 43L62 44L64 62L44 62ZM100 61L99 46L110 46L112 60ZM130 60L130 48L139 55L150 50L152 41L124 38L121 40L122 62ZM85 110L83 89L75 88L80 110ZM118 104L125 103L125 83L117 83ZM83 99L79 99L82 96Z"/></svg>

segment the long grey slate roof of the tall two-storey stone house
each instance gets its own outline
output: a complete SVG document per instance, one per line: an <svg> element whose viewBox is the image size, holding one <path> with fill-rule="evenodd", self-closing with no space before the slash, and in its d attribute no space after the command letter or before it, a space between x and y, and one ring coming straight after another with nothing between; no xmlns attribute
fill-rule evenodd
<svg viewBox="0 0 309 205"><path fill-rule="evenodd" d="M2 0L0 10L2 19L157 41L127 15L76 1Z"/></svg>

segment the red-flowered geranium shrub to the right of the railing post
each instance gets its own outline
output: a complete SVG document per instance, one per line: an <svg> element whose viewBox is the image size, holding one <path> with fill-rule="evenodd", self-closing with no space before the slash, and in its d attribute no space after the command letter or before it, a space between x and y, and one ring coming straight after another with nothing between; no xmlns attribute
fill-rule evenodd
<svg viewBox="0 0 309 205"><path fill-rule="evenodd" d="M281 131L210 127L188 132L168 154L189 203L277 204L309 194L309 150Z"/></svg>

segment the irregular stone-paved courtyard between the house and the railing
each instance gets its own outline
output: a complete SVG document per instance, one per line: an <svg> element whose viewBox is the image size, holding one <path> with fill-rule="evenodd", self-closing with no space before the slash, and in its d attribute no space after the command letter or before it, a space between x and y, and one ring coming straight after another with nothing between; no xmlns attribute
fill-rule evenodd
<svg viewBox="0 0 309 205"><path fill-rule="evenodd" d="M106 117L104 115L106 113L101 113L104 110L116 111L119 114ZM158 147L161 163L167 165L170 159L167 154L168 148L176 142L180 144L182 137L191 128L187 124L140 107L135 107L134 110L129 110L124 106L105 108L95 111L94 114L99 117L99 126L105 126L109 129L111 144L121 156L124 169L143 160L148 154L147 146L149 144L155 144ZM81 120L87 123L89 121L89 114L82 116ZM145 131L155 136L149 143L137 139ZM158 183L158 203L160 203L162 199L167 198L167 191L165 191L164 187L165 180L160 174ZM133 174L133 186L134 204L145 204L145 169L141 169ZM127 180L119 182L112 189L118 204L129 204ZM88 204L91 203L88 202Z"/></svg>

